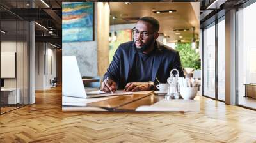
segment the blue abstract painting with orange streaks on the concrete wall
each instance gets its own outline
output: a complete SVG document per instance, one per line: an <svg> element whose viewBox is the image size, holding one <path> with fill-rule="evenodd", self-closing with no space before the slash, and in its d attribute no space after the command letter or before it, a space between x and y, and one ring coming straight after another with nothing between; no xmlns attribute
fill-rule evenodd
<svg viewBox="0 0 256 143"><path fill-rule="evenodd" d="M62 3L62 42L93 41L93 3Z"/></svg>

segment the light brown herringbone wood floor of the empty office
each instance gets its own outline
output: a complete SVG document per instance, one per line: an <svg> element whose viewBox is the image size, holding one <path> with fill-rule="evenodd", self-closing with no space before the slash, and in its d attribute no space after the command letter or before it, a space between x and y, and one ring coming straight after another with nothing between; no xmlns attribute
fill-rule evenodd
<svg viewBox="0 0 256 143"><path fill-rule="evenodd" d="M0 142L256 142L255 111L200 102L200 112L62 112L58 87L0 116Z"/></svg>

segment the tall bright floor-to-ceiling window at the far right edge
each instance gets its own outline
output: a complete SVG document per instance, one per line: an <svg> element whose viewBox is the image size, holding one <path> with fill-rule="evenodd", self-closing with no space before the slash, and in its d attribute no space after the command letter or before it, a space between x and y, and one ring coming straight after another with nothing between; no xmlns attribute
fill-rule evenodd
<svg viewBox="0 0 256 143"><path fill-rule="evenodd" d="M253 109L256 109L256 21L253 19L255 13L256 3L237 12L238 104Z"/></svg>

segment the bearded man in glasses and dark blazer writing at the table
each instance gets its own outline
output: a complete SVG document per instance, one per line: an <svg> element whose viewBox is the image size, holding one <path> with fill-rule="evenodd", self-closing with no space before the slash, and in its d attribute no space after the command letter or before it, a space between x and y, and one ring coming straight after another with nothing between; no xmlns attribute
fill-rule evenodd
<svg viewBox="0 0 256 143"><path fill-rule="evenodd" d="M159 22L153 17L142 17L132 29L133 41L122 43L103 77L101 90L107 93L148 91L157 80L166 83L173 68L184 76L179 52L156 41Z"/></svg>

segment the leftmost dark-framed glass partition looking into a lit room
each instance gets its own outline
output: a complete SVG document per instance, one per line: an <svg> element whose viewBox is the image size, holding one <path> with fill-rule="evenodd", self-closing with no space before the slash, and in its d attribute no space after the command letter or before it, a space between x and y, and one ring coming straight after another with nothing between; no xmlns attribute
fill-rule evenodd
<svg viewBox="0 0 256 143"><path fill-rule="evenodd" d="M13 10L27 8L28 2L12 1ZM10 1L0 2L8 3ZM29 103L29 22L3 8L0 8L0 13L0 72L3 81L0 114L3 114Z"/></svg>

